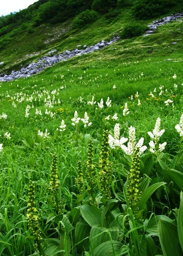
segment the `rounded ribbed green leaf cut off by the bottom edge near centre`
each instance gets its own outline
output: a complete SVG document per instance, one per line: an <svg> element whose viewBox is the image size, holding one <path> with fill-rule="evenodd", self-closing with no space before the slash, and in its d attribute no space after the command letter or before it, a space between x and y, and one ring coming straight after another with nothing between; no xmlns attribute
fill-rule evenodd
<svg viewBox="0 0 183 256"><path fill-rule="evenodd" d="M118 241L107 241L94 250L93 256L117 256L120 255L120 249L123 246L121 242Z"/></svg>

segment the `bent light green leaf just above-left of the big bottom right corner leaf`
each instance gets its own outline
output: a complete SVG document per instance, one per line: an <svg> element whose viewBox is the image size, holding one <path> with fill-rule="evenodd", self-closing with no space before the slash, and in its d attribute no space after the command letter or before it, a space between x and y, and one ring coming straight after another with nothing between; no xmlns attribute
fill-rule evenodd
<svg viewBox="0 0 183 256"><path fill-rule="evenodd" d="M151 236L158 236L158 222L160 220L172 222L172 220L165 215L157 215L152 217L150 220L147 220L146 224L144 224L146 226L145 231Z"/></svg>

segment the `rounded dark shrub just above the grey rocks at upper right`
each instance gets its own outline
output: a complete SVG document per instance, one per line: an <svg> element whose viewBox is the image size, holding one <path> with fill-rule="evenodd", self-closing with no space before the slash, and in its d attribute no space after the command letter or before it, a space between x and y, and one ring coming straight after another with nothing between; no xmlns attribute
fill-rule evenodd
<svg viewBox="0 0 183 256"><path fill-rule="evenodd" d="M130 24L126 26L121 33L119 33L120 38L127 39L135 36L141 36L147 27L141 24Z"/></svg>

